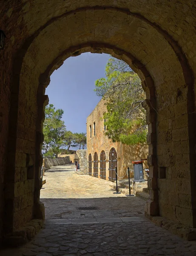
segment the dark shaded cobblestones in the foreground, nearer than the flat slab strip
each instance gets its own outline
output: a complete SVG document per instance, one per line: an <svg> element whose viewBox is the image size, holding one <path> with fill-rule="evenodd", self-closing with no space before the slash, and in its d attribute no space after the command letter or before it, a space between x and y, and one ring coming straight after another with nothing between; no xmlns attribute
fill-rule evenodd
<svg viewBox="0 0 196 256"><path fill-rule="evenodd" d="M196 242L184 241L146 222L48 225L23 247L0 256L196 256Z"/></svg>

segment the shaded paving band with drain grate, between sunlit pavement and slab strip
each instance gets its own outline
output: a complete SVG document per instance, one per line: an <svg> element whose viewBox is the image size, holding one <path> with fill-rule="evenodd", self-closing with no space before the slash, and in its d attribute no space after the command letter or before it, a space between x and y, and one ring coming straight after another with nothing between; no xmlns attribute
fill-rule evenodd
<svg viewBox="0 0 196 256"><path fill-rule="evenodd" d="M144 214L145 205L145 201L136 197L41 198L40 201L45 205L46 219L139 216Z"/></svg>

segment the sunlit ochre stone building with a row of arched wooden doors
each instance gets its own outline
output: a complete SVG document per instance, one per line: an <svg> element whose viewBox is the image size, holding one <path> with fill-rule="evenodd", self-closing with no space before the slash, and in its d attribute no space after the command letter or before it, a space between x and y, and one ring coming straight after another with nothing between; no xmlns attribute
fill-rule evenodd
<svg viewBox="0 0 196 256"><path fill-rule="evenodd" d="M101 99L95 109L87 117L87 160L88 174L105 180L116 180L115 167L119 178L127 178L130 167L133 177L133 160L146 159L148 145L123 145L114 143L105 136L103 113L107 111L105 101ZM144 168L148 167L146 161ZM144 170L145 175L145 170Z"/></svg>

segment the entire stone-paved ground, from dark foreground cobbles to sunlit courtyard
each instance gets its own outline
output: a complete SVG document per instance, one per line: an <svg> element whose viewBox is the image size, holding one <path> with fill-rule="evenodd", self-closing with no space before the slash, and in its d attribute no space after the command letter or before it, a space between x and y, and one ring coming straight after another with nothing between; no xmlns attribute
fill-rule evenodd
<svg viewBox="0 0 196 256"><path fill-rule="evenodd" d="M0 256L196 256L195 241L184 241L144 217L142 199L114 195L108 182L77 175L71 170L48 172L45 177L47 183L41 191L41 200L46 207L44 228L25 246L4 250ZM86 180L83 185L82 179ZM91 191L90 187L94 190ZM51 189L47 192L47 188L53 192ZM66 190L64 193L63 188ZM58 191L60 199L57 198ZM70 199L71 192L74 199ZM92 198L94 195L97 198ZM84 206L98 209L78 209ZM102 223L85 223L90 217L97 220L100 216L107 217L105 220L108 223L103 223L103 219ZM114 219L120 219L121 222L116 223ZM66 221L71 220L72 224L66 224ZM77 221L81 224L77 224Z"/></svg>

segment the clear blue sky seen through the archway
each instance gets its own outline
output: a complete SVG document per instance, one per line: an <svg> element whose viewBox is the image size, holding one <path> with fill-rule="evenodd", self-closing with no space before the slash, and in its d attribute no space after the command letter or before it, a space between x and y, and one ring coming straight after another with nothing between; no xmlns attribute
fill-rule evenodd
<svg viewBox="0 0 196 256"><path fill-rule="evenodd" d="M94 92L94 82L105 77L108 54L82 53L70 57L53 72L46 88L49 104L64 111L68 131L86 132L86 118L101 99Z"/></svg>

